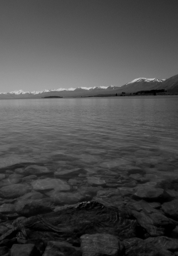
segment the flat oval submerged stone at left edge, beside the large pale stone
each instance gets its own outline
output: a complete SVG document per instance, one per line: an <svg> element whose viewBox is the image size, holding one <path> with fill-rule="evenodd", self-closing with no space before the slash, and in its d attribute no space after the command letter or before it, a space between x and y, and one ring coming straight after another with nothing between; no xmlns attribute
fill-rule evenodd
<svg viewBox="0 0 178 256"><path fill-rule="evenodd" d="M1 198L19 198L28 192L31 192L31 186L28 184L7 185L0 189Z"/></svg>

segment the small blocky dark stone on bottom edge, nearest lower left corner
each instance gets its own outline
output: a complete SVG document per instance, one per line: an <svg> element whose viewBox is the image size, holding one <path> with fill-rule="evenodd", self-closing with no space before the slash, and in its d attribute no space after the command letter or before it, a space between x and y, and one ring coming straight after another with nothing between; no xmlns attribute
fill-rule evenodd
<svg viewBox="0 0 178 256"><path fill-rule="evenodd" d="M36 246L33 244L18 245L11 247L11 256L33 256L37 254Z"/></svg>

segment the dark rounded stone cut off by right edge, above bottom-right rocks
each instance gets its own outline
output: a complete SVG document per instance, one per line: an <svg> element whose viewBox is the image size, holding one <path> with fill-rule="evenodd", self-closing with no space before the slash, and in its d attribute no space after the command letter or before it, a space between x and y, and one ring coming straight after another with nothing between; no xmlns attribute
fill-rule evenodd
<svg viewBox="0 0 178 256"><path fill-rule="evenodd" d="M163 212L169 217L178 220L178 200L172 200L171 202L162 204Z"/></svg>

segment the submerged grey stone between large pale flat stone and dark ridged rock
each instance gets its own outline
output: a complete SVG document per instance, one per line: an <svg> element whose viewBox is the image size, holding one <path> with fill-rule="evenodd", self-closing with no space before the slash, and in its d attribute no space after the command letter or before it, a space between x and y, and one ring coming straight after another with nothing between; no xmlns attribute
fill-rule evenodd
<svg viewBox="0 0 178 256"><path fill-rule="evenodd" d="M53 190L46 194L51 198L52 202L57 205L73 205L86 200L85 197L78 192L62 193Z"/></svg>

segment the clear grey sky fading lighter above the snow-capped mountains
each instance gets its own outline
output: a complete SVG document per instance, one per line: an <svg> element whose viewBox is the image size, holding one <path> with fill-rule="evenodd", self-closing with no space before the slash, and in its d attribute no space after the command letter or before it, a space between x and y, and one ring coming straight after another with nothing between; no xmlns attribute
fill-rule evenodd
<svg viewBox="0 0 178 256"><path fill-rule="evenodd" d="M178 73L177 0L1 0L0 92Z"/></svg>

